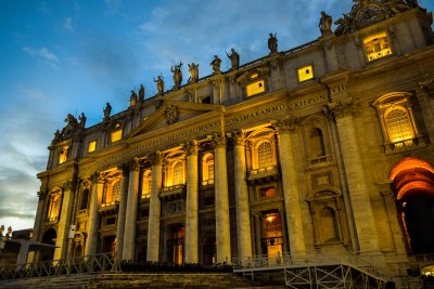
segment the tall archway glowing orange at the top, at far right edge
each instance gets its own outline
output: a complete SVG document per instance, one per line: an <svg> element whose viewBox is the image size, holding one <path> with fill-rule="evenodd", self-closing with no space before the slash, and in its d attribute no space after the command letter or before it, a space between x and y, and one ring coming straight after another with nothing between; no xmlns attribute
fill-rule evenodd
<svg viewBox="0 0 434 289"><path fill-rule="evenodd" d="M390 180L408 249L412 254L434 253L434 167L408 157L394 166Z"/></svg>

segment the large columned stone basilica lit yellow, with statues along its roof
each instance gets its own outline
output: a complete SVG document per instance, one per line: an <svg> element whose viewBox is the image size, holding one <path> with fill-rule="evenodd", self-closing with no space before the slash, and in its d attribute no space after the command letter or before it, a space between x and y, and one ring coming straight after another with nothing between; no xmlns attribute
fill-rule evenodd
<svg viewBox="0 0 434 289"><path fill-rule="evenodd" d="M228 71L189 64L93 127L68 115L38 174L34 239L56 249L33 260L357 254L407 274L434 252L432 14L360 0L335 24Z"/></svg>

